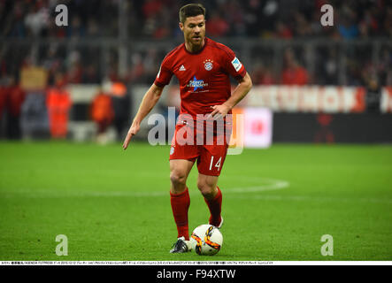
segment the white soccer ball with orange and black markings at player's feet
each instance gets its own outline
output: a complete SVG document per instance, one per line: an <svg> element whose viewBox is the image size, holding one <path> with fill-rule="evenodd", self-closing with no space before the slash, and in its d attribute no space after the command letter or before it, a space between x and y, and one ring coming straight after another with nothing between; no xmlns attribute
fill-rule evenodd
<svg viewBox="0 0 392 283"><path fill-rule="evenodd" d="M192 249L200 256L213 256L222 247L223 236L219 229L209 224L197 226L193 230L190 244Z"/></svg>

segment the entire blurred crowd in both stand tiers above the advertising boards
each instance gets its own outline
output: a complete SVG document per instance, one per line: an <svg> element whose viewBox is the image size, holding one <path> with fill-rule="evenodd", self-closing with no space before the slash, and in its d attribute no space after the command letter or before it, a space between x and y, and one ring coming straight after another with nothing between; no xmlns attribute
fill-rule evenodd
<svg viewBox="0 0 392 283"><path fill-rule="evenodd" d="M21 66L41 65L50 73L64 73L68 83L100 83L104 79L126 84L150 84L165 53L182 41L178 11L191 1L178 0L0 0L0 38L27 40L35 44L0 46L2 78L15 77ZM392 2L388 0L209 0L206 7L207 36L224 38L246 64L255 84L365 85L376 77L380 85L392 84ZM122 6L119 4L122 3ZM57 4L68 8L68 26L55 24ZM320 24L323 4L334 7L334 26ZM121 15L123 16L121 18ZM124 19L125 15L125 19ZM120 20L121 19L121 20ZM104 48L107 39L117 40L126 25L128 53L120 57L116 45ZM367 45L350 48L313 46L307 39L350 42L365 39ZM58 39L61 42L39 42ZM98 40L91 44L80 40ZM150 44L133 49L136 40L168 42L166 48ZM273 39L304 40L298 48L243 51L247 39L268 43ZM373 39L389 39L371 45ZM242 41L243 40L243 41ZM70 45L65 42L75 42ZM272 58L275 58L272 60ZM276 60L278 58L278 60ZM119 73L120 61L127 70Z"/></svg>

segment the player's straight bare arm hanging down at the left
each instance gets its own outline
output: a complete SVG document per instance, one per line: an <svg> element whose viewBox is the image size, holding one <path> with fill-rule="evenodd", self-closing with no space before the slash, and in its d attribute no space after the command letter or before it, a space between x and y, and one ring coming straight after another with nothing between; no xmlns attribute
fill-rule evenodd
<svg viewBox="0 0 392 283"><path fill-rule="evenodd" d="M158 103L159 97L162 95L163 89L164 88L160 88L157 85L152 84L150 89L146 92L142 99L142 103L140 103L139 110L136 113L135 119L128 130L127 137L122 145L123 149L127 149L132 137L137 134L137 132L139 132L142 119L144 119Z"/></svg>

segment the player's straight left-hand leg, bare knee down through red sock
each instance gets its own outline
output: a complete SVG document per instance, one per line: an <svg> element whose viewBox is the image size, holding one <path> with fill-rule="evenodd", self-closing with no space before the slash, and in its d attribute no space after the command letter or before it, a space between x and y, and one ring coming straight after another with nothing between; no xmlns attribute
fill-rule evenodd
<svg viewBox="0 0 392 283"><path fill-rule="evenodd" d="M195 161L185 159L170 160L170 203L177 226L178 238L189 240L188 208L190 204L187 178Z"/></svg>

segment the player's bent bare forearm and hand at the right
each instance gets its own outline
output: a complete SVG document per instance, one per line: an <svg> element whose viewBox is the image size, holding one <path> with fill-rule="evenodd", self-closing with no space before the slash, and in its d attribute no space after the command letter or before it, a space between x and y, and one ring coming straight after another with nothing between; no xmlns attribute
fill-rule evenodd
<svg viewBox="0 0 392 283"><path fill-rule="evenodd" d="M213 109L211 116L215 118L218 118L218 116L225 117L228 111L232 110L233 107L249 93L250 88L252 88L252 80L247 72L245 76L238 81L238 86L234 89L234 92L225 103L211 106Z"/></svg>

